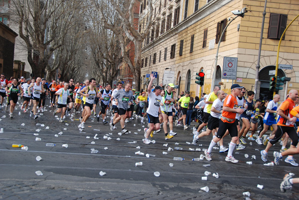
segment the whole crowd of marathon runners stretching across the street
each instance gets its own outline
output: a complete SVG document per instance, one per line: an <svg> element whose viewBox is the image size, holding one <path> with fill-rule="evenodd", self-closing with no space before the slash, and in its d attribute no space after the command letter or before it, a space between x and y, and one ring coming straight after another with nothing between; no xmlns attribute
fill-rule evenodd
<svg viewBox="0 0 299 200"><path fill-rule="evenodd" d="M201 99L193 98L189 91L181 92L176 99L175 86L172 83L164 90L160 86L152 86L153 80L151 74L147 91L142 90L136 95L136 90L132 89L130 83L123 85L119 82L116 88L112 89L109 84L97 86L94 78L86 80L83 84L74 84L73 79L69 82L47 83L46 79L39 77L11 77L8 81L5 75L1 74L0 109L4 107L5 110L9 110L9 117L13 118L17 101L22 99L21 110L25 113L30 112L29 116L37 119L40 116L38 113L44 111L46 97L50 95L50 106L55 107L53 116L59 113L60 122L63 122L71 111L74 114L81 113L78 124L80 131L84 130L85 123L92 114L97 117L97 122L102 119L105 125L109 123L106 121L106 115L111 113L111 131L117 129L116 125L120 122L122 134L129 133L125 125L129 120L140 118L142 124L147 120L148 128L144 128L143 138L145 144L150 144L150 138L161 129L165 140L168 140L177 134L173 132L174 125L182 126L182 131L186 131L190 123L195 121L197 127L190 130L193 132L193 138L190 138L193 145L196 145L201 137L212 133L210 145L204 152L208 161L212 160L213 147L218 144L220 153L227 152L225 161L238 163L233 157L234 149L240 151L246 148L247 142L256 141L258 145L265 145L265 149L261 151L261 159L264 162L268 162L270 148L280 143L280 152L273 153L275 165L279 165L280 160L285 157L286 163L299 166L293 158L293 155L299 154L299 128L296 130L299 127L297 90L290 90L286 100L280 104L279 95L275 95L273 100L254 100L255 93L238 84L231 86L230 95L215 87L213 92L203 94ZM4 99L6 106L3 104ZM97 104L100 107L99 113L96 113ZM272 131L266 135L270 127ZM231 141L229 146L225 147L223 138L227 135L231 136ZM285 176L281 184L283 192L299 182L299 179L293 176Z"/></svg>

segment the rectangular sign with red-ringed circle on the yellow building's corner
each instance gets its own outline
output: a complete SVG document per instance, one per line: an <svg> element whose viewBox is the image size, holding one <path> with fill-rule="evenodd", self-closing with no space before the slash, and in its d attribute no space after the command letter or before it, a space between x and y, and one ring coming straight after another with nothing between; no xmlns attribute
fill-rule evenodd
<svg viewBox="0 0 299 200"><path fill-rule="evenodd" d="M237 63L238 58L224 57L222 79L235 80L237 78Z"/></svg>

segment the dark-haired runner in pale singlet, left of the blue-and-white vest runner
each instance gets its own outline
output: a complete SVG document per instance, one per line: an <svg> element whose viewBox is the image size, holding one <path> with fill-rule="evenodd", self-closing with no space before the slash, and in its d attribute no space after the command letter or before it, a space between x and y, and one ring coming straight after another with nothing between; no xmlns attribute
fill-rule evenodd
<svg viewBox="0 0 299 200"><path fill-rule="evenodd" d="M80 131L82 131L85 128L86 120L91 115L91 110L93 107L93 102L98 94L98 91L96 89L96 79L91 78L89 80L90 85L80 90L80 95L83 96L83 108L85 110L85 114L83 116L82 122L79 124L78 128Z"/></svg>

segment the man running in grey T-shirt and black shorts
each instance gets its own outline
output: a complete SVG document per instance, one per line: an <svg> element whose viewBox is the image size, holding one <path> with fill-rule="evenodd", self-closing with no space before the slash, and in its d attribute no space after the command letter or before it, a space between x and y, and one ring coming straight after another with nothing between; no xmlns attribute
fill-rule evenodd
<svg viewBox="0 0 299 200"><path fill-rule="evenodd" d="M131 84L127 83L125 89L118 90L114 96L114 98L117 99L119 116L116 119L114 119L112 123L110 123L110 129L113 130L114 125L120 121L122 127L122 134L128 132L128 130L125 129L126 111L128 109L128 105L131 106L134 100L133 93L130 90L130 88L131 88Z"/></svg>

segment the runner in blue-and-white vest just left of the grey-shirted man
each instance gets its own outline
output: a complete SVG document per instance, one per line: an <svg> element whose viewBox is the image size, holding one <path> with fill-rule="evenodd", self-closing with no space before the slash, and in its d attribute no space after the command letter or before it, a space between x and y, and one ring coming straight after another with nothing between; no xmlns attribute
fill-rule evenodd
<svg viewBox="0 0 299 200"><path fill-rule="evenodd" d="M97 121L100 122L100 115L102 114L102 118L103 118L103 124L108 123L108 121L105 120L105 113L106 113L106 108L110 103L111 100L111 86L110 84L107 84L104 90L100 91L100 99L101 99L101 110L99 112L99 114L97 115Z"/></svg>

